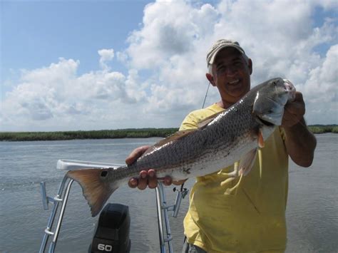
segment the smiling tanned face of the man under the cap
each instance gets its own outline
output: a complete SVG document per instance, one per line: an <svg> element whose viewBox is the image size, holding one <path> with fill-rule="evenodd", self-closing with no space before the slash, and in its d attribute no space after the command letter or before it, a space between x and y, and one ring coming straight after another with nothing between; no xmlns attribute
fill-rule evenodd
<svg viewBox="0 0 338 253"><path fill-rule="evenodd" d="M250 91L252 62L245 61L235 48L223 48L212 64L213 86L217 86L222 100L236 103Z"/></svg>

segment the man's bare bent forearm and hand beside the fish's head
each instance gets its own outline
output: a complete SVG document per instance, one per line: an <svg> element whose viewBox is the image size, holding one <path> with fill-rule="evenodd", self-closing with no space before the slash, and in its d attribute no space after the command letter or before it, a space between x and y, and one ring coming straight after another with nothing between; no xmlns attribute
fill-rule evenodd
<svg viewBox="0 0 338 253"><path fill-rule="evenodd" d="M282 127L285 129L285 145L290 158L299 166L309 167L312 165L317 140L307 128L304 113L303 96L297 92L295 100L285 105Z"/></svg>

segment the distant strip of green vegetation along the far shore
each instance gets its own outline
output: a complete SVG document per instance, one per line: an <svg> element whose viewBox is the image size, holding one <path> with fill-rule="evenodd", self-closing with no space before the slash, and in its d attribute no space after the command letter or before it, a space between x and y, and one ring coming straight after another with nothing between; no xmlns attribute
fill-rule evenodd
<svg viewBox="0 0 338 253"><path fill-rule="evenodd" d="M309 125L312 133L338 133L338 125ZM118 130L91 130L65 132L0 132L0 140L75 140L167 137L178 128L130 128Z"/></svg>

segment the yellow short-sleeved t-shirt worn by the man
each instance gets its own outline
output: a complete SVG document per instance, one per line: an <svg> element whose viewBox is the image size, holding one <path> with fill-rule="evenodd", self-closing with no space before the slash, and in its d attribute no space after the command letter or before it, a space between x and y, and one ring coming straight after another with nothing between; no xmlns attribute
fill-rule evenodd
<svg viewBox="0 0 338 253"><path fill-rule="evenodd" d="M217 104L190 113L180 130L197 128L224 110ZM185 236L207 252L284 252L288 155L276 128L246 176L228 177L235 165L197 177L184 220Z"/></svg>

